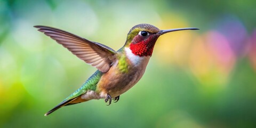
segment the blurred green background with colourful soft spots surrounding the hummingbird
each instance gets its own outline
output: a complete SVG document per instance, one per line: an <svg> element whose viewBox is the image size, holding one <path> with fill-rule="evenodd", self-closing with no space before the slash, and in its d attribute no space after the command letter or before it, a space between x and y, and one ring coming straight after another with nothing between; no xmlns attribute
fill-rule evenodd
<svg viewBox="0 0 256 128"><path fill-rule="evenodd" d="M256 127L256 1L0 0L0 127ZM106 106L46 111L96 70L35 25L118 50L134 25L161 36L141 81Z"/></svg>

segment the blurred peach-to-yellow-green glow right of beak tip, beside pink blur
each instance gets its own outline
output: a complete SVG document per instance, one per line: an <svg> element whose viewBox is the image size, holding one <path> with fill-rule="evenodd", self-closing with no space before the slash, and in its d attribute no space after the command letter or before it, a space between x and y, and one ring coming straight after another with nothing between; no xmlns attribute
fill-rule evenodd
<svg viewBox="0 0 256 128"><path fill-rule="evenodd" d="M189 56L189 68L202 85L204 91L221 90L227 85L229 72L223 73L221 63L214 56L212 48L207 45L207 35L197 37ZM234 62L234 61L233 61ZM230 65L231 66L231 65ZM227 67L230 68L230 67ZM207 91L206 91L207 92Z"/></svg>

